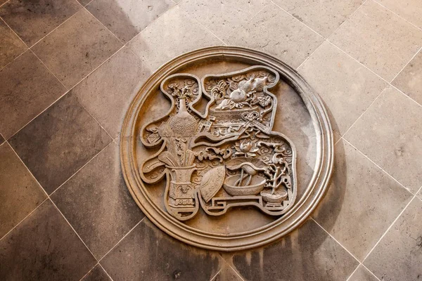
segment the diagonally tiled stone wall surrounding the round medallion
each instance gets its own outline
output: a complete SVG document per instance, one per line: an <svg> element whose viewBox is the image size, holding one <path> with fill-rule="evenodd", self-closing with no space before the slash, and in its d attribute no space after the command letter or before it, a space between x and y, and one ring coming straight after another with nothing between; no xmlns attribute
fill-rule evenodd
<svg viewBox="0 0 422 281"><path fill-rule="evenodd" d="M422 1L0 0L0 280L422 280ZM257 48L331 110L324 202L279 242L221 254L127 192L124 112L162 63Z"/></svg>

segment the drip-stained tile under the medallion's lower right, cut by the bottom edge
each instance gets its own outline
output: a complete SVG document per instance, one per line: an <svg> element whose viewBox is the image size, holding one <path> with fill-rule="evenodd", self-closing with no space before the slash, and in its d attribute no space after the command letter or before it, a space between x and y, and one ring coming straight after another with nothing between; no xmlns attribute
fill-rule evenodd
<svg viewBox="0 0 422 281"><path fill-rule="evenodd" d="M245 280L346 280L359 263L314 221L266 247L236 253ZM339 266L341 265L341 266Z"/></svg>

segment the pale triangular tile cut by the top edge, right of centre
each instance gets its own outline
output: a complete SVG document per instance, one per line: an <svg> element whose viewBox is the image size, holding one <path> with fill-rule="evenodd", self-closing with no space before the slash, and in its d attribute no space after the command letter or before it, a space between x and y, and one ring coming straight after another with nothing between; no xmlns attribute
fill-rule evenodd
<svg viewBox="0 0 422 281"><path fill-rule="evenodd" d="M364 0L274 0L274 3L326 38L363 2Z"/></svg>

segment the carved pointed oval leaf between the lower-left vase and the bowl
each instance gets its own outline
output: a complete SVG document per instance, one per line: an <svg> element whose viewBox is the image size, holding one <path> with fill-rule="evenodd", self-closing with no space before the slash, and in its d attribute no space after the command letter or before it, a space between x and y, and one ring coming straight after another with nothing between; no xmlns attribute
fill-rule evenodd
<svg viewBox="0 0 422 281"><path fill-rule="evenodd" d="M203 197L205 202L210 201L210 199L218 192L223 186L224 182L224 166L217 166L214 169L207 171L200 181L200 195Z"/></svg>

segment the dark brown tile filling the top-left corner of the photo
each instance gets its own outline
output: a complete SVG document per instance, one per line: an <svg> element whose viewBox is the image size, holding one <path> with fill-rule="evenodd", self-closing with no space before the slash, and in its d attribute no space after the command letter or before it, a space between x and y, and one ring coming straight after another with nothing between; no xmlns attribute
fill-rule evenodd
<svg viewBox="0 0 422 281"><path fill-rule="evenodd" d="M58 27L82 6L75 0L11 0L0 8L0 16L28 46Z"/></svg>

